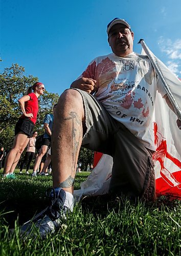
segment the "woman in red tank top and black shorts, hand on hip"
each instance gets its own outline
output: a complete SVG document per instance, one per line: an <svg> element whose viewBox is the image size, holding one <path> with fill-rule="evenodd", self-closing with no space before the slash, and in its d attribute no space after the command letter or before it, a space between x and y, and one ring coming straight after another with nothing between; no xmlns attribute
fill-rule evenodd
<svg viewBox="0 0 181 256"><path fill-rule="evenodd" d="M15 125L14 143L5 160L4 177L15 178L14 169L33 135L38 113L38 97L43 92L44 84L35 82L32 87L28 88L26 95L18 99L22 115Z"/></svg>

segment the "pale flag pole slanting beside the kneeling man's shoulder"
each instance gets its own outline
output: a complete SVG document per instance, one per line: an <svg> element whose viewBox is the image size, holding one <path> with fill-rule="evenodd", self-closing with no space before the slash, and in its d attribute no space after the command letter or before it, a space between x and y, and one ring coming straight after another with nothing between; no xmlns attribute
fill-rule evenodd
<svg viewBox="0 0 181 256"><path fill-rule="evenodd" d="M174 108L175 114L177 115L178 119L181 121L181 110L179 109L179 106L176 103L175 98L173 97L173 94L171 93L170 88L168 87L168 85L166 83L166 80L165 80L162 72L160 71L159 66L156 63L154 55L152 54L152 52L149 50L149 48L145 44L144 39L140 39L138 44L141 44L143 50L145 51L145 53L147 54L148 58L150 59L152 65L153 65L153 68L155 69L157 75L160 77L160 79L162 81L162 84L163 84L163 86L165 88L165 91L166 91L166 93L167 93L167 95L168 95L168 97L169 97L169 99L170 99L170 101L172 103L173 108Z"/></svg>

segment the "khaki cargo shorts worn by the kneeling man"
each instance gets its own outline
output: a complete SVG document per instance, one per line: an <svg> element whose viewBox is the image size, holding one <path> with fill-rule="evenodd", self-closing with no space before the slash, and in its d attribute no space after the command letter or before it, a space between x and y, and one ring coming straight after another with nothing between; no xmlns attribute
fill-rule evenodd
<svg viewBox="0 0 181 256"><path fill-rule="evenodd" d="M131 198L155 199L152 151L120 122L112 118L93 96L79 89L85 111L82 146L112 156L109 190Z"/></svg>

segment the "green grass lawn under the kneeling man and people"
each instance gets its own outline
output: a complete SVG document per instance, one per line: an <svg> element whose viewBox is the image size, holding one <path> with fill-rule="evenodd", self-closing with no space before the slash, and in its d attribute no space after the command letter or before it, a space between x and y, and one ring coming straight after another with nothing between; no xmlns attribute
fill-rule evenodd
<svg viewBox="0 0 181 256"><path fill-rule="evenodd" d="M89 173L76 176L75 189ZM180 255L181 203L160 198L149 204L107 196L85 198L62 228L47 239L22 241L18 225L46 207L52 177L1 178L0 255ZM14 233L9 228L16 227Z"/></svg>

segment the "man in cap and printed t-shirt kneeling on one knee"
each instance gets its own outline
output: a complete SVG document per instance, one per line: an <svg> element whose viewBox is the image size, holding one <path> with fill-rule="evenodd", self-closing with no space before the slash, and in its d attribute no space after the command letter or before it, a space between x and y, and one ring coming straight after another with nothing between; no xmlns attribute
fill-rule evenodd
<svg viewBox="0 0 181 256"><path fill-rule="evenodd" d="M61 219L73 210L81 145L113 157L110 192L155 199L152 115L156 91L173 107L149 58L133 52L134 34L129 24L115 18L107 26L107 35L112 53L90 62L57 104L52 133L52 205L34 218L42 237L60 227Z"/></svg>

